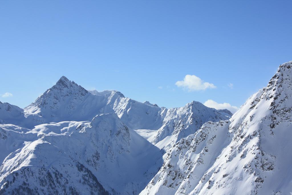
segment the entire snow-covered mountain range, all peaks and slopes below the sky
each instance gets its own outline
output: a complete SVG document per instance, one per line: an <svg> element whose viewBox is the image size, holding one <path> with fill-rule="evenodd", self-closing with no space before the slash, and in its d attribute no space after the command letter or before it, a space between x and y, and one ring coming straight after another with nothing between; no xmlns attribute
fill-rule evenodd
<svg viewBox="0 0 292 195"><path fill-rule="evenodd" d="M24 109L0 102L0 194L290 194L291 66L232 117L66 77Z"/></svg>

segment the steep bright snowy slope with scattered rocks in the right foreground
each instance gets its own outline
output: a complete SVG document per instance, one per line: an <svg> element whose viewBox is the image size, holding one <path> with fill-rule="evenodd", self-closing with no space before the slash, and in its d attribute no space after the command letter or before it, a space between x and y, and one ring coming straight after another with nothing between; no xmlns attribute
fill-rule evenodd
<svg viewBox="0 0 292 195"><path fill-rule="evenodd" d="M204 124L164 154L141 194L290 194L292 62L230 121Z"/></svg>

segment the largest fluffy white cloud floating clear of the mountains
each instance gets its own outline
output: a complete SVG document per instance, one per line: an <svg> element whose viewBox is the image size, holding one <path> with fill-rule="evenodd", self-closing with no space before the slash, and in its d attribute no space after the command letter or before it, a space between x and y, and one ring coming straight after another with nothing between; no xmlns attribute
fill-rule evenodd
<svg viewBox="0 0 292 195"><path fill-rule="evenodd" d="M183 81L178 81L175 83L178 87L183 87L189 91L199 91L205 89L214 89L216 86L212 83L204 82L196 75L185 75Z"/></svg>

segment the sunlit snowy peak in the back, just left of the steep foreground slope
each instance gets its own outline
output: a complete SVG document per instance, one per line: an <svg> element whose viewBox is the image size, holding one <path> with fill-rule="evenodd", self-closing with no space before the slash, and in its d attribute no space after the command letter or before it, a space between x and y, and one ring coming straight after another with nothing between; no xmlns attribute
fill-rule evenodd
<svg viewBox="0 0 292 195"><path fill-rule="evenodd" d="M181 108L170 108L166 112L162 126L150 141L157 147L168 150L181 138L195 133L205 122L217 122L231 117L225 115L197 101L187 103Z"/></svg>

